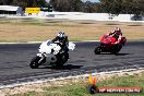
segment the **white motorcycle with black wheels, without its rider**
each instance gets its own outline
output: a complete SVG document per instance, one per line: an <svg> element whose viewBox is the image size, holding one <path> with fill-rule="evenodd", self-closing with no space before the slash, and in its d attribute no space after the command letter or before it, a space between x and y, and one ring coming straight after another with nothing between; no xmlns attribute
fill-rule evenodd
<svg viewBox="0 0 144 96"><path fill-rule="evenodd" d="M68 50L74 50L75 44L69 43ZM62 50L60 43L47 40L41 43L39 53L34 57L29 63L32 69L37 69L39 65L62 67L69 59L68 50Z"/></svg>

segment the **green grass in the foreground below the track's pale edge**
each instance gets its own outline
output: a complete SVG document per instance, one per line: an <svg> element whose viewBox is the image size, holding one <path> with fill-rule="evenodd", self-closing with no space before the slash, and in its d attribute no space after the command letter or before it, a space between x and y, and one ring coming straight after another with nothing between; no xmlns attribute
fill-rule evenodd
<svg viewBox="0 0 144 96"><path fill-rule="evenodd" d="M87 93L88 83L71 83L62 86L50 86L43 87L44 92L27 92L24 94L16 94L13 96L92 96ZM121 77L112 77L109 80L98 82L97 86L127 86L127 87L144 87L144 73L142 75L131 75L131 76L121 76ZM95 94L93 96L144 96L144 92L142 93L100 93Z"/></svg>

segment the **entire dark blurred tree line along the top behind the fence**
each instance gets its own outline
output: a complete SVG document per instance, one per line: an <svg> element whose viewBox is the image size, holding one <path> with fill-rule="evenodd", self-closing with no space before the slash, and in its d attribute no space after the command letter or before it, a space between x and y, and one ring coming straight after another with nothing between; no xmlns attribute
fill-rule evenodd
<svg viewBox="0 0 144 96"><path fill-rule="evenodd" d="M99 0L99 2L82 2L81 0L0 0L0 4L26 7L52 5L60 12L88 12L111 14L144 14L144 0Z"/></svg>

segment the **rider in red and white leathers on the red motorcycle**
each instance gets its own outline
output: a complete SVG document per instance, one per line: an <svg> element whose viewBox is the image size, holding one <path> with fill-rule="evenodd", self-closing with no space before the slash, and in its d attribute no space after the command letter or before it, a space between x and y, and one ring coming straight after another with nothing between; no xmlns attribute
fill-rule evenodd
<svg viewBox="0 0 144 96"><path fill-rule="evenodd" d="M112 36L117 39L117 41L115 44L119 44L121 38L122 38L122 33L121 29L119 27L116 27L112 32L110 32L108 34L109 36Z"/></svg>

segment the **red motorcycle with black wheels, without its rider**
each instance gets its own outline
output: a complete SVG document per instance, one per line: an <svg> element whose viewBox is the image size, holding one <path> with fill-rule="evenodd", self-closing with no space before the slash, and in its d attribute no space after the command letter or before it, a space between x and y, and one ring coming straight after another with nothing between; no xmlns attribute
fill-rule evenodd
<svg viewBox="0 0 144 96"><path fill-rule="evenodd" d="M122 37L119 44L115 44L117 39L113 36L104 35L100 39L100 46L96 47L94 52L95 55L99 55L100 52L110 52L110 53L118 53L122 46L124 46L127 39Z"/></svg>

